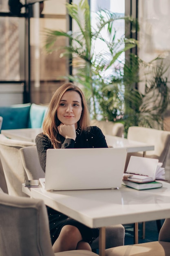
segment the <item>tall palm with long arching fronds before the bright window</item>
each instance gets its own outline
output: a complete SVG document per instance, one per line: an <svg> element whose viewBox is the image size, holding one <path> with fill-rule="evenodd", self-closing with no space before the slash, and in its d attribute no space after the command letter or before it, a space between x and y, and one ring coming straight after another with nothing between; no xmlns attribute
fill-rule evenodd
<svg viewBox="0 0 170 256"><path fill-rule="evenodd" d="M102 107L103 100L106 97L103 88L107 85L113 85L114 90L110 94L112 94L114 104L121 104L123 100L123 96L119 95L121 79L116 65L123 52L137 45L137 40L133 38L122 37L117 40L114 22L116 20L125 20L126 23L132 25L132 31L135 32L138 29L137 20L130 16L118 17L115 13L101 10L96 13L97 25L93 27L91 25L91 11L88 0L81 0L78 5L67 3L66 7L68 14L75 20L79 31L45 30L46 49L49 52L62 50L60 57L67 56L71 58L71 65L73 65L75 73L65 78L83 86L93 118L96 119L98 115L101 115L103 119L107 119ZM102 36L104 29L107 31L107 38ZM55 42L60 37L68 38L70 43L67 46L56 49ZM95 46L98 40L104 44L104 50L96 53ZM110 75L108 75L108 70L111 70ZM116 108L117 106L115 106Z"/></svg>

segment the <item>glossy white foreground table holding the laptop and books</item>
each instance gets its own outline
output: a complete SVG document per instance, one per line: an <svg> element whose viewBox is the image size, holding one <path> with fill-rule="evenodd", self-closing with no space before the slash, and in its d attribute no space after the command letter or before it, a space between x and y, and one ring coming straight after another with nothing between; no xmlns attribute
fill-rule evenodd
<svg viewBox="0 0 170 256"><path fill-rule="evenodd" d="M24 184L22 191L88 227L99 227L99 255L104 256L106 226L170 218L170 184L162 183L163 188L145 191L121 186L114 190L49 192Z"/></svg>

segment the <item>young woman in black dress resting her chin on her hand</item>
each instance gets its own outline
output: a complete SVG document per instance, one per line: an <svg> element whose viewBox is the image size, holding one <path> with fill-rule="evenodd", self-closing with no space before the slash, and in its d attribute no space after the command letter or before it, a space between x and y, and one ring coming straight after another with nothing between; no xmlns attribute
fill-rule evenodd
<svg viewBox="0 0 170 256"><path fill-rule="evenodd" d="M35 142L44 172L48 148L108 147L102 131L97 126L90 126L86 100L73 83L65 83L56 90L44 119L43 132ZM90 244L99 236L99 229L88 228L49 207L47 211L54 252L91 250Z"/></svg>

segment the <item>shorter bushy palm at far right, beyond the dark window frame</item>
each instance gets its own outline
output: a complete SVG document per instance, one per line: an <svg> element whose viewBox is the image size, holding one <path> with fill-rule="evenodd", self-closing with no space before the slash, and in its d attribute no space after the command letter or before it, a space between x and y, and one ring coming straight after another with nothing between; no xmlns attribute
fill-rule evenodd
<svg viewBox="0 0 170 256"><path fill-rule="evenodd" d="M129 126L144 126L163 130L163 118L170 103L170 91L165 76L168 67L164 65L163 59L160 57L149 63L145 63L135 55L131 55L130 59L131 63L126 63L124 66L125 106L123 119L125 136ZM140 73L143 70L144 78L140 74L141 79L139 79L139 70ZM132 76L132 72L135 75ZM135 83L141 81L145 82L144 94L135 89ZM128 86L128 90L126 90L126 86Z"/></svg>

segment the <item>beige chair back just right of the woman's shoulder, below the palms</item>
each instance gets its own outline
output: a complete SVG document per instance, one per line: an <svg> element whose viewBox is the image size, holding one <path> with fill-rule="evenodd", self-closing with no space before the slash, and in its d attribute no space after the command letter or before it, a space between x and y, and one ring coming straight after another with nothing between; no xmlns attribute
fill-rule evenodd
<svg viewBox="0 0 170 256"><path fill-rule="evenodd" d="M124 133L124 125L119 122L106 122L93 119L91 120L91 126L99 127L104 135L122 137Z"/></svg>

